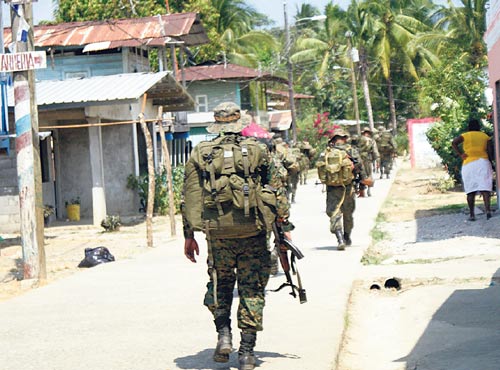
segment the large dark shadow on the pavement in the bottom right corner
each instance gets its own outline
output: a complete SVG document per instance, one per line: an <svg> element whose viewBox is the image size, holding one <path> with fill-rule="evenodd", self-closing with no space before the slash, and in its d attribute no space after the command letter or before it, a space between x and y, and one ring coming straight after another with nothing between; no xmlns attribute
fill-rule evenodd
<svg viewBox="0 0 500 370"><path fill-rule="evenodd" d="M498 370L500 269L485 289L454 291L433 315L406 361L408 370Z"/></svg>

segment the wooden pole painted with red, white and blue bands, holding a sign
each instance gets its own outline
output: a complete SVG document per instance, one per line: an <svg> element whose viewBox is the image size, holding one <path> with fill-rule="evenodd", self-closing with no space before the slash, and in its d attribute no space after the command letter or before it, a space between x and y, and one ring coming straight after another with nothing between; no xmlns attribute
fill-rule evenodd
<svg viewBox="0 0 500 370"><path fill-rule="evenodd" d="M33 52L33 12L31 2L11 10L12 41L15 53ZM27 33L27 34L26 34ZM17 178L21 215L21 244L24 279L45 280L43 194L38 139L38 110L35 71L14 72Z"/></svg>

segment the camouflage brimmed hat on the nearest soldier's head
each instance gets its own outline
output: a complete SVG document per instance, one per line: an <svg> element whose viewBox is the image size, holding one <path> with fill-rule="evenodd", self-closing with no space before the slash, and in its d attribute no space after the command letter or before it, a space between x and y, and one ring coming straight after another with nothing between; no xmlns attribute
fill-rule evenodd
<svg viewBox="0 0 500 370"><path fill-rule="evenodd" d="M241 132L241 130L250 124L252 117L242 112L237 104L225 102L214 108L214 119L215 122L207 127L207 131L211 134Z"/></svg>

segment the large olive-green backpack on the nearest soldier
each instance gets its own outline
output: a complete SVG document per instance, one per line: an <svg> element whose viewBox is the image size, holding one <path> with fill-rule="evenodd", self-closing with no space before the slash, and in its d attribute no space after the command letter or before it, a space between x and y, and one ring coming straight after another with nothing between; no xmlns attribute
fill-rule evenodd
<svg viewBox="0 0 500 370"><path fill-rule="evenodd" d="M251 137L220 136L199 143L186 164L183 216L196 231L245 238L271 230L274 191L261 184L267 150Z"/></svg>

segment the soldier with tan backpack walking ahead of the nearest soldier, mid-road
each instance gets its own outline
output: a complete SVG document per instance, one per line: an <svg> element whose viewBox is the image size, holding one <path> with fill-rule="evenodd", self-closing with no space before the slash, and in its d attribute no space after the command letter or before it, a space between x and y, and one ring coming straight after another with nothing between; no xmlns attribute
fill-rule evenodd
<svg viewBox="0 0 500 370"><path fill-rule="evenodd" d="M321 182L326 184L326 213L330 217L330 232L337 237L338 250L344 250L346 245L352 244L351 231L356 208L353 180L358 172L363 179L361 163L355 157L356 152L347 144L348 137L349 134L343 129L335 130L316 165Z"/></svg>

